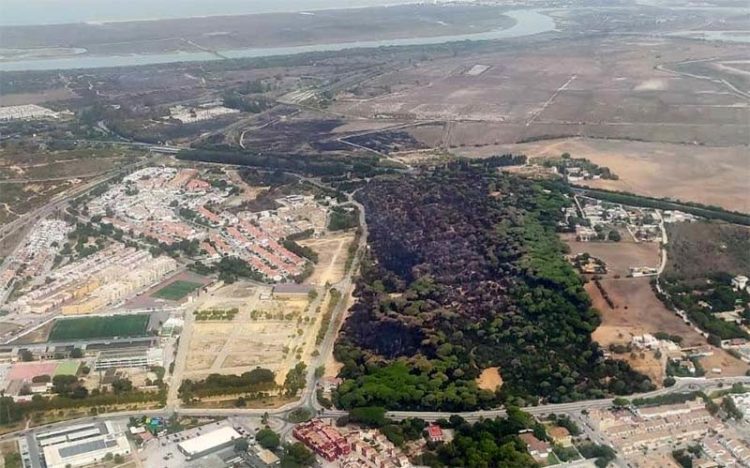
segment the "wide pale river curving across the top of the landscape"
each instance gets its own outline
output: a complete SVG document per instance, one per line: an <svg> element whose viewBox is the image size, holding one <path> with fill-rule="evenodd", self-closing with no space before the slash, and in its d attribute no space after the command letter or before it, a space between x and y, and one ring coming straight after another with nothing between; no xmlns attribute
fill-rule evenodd
<svg viewBox="0 0 750 468"><path fill-rule="evenodd" d="M515 20L515 24L507 29L474 34L458 34L433 37L413 37L402 39L388 39L382 41L338 42L329 44L311 44L294 47L248 48L235 50L220 50L229 58L271 57L277 55L293 55L306 52L331 52L352 48L373 48L386 46L429 45L457 41L483 41L508 39L530 36L553 31L555 21L540 10L512 10L505 13ZM77 68L125 67L137 65L152 65L174 62L195 62L221 60L208 52L170 52L164 54L132 54L132 55L79 55L53 59L28 59L0 62L2 71L26 70L70 70Z"/></svg>

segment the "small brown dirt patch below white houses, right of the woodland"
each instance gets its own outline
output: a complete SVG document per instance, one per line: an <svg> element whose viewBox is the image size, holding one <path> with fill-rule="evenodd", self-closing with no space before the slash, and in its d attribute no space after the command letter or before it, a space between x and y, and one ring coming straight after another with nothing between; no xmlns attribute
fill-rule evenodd
<svg viewBox="0 0 750 468"><path fill-rule="evenodd" d="M626 276L631 266L659 266L659 244L656 242L578 242L568 240L572 254L587 252L607 264L607 276Z"/></svg>

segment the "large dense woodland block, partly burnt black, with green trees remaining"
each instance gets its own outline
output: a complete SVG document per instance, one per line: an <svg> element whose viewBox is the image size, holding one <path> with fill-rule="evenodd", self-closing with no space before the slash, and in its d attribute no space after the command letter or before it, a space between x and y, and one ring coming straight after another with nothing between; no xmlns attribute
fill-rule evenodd
<svg viewBox="0 0 750 468"><path fill-rule="evenodd" d="M456 411L653 388L591 341L599 317L555 233L569 199L541 184L456 163L357 193L371 250L335 348L340 407ZM494 392L475 383L491 366L504 381Z"/></svg>

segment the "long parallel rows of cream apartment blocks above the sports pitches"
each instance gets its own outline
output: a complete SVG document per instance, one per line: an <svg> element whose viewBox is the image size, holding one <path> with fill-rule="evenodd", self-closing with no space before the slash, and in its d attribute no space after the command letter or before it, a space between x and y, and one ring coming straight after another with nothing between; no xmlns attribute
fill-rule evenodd
<svg viewBox="0 0 750 468"><path fill-rule="evenodd" d="M18 313L88 314L161 281L177 269L169 257L112 245L49 273L47 282L8 304Z"/></svg>

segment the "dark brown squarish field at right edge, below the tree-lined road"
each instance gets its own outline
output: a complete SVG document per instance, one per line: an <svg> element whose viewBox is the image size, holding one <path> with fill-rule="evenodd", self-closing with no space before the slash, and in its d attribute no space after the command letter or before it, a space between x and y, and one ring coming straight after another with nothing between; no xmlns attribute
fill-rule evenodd
<svg viewBox="0 0 750 468"><path fill-rule="evenodd" d="M750 228L727 223L667 225L669 257L665 274L685 279L715 272L750 272Z"/></svg>

